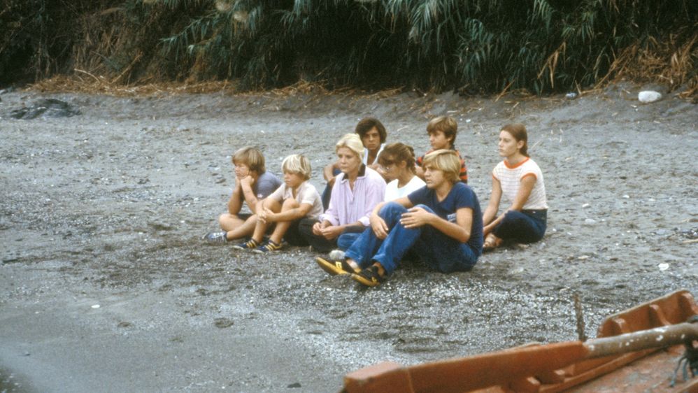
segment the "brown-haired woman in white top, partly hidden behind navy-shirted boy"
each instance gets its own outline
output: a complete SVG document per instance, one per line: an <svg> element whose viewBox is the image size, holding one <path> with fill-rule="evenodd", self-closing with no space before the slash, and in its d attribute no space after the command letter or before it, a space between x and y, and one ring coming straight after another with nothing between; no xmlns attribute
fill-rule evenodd
<svg viewBox="0 0 698 393"><path fill-rule="evenodd" d="M415 151L404 143L390 143L378 155L378 173L388 182L384 201L406 197L424 187L424 180L415 176Z"/></svg>

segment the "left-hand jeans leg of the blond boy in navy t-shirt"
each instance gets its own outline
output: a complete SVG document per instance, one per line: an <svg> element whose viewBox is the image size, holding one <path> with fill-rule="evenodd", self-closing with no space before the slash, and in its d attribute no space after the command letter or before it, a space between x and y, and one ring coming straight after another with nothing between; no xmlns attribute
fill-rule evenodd
<svg viewBox="0 0 698 393"><path fill-rule="evenodd" d="M388 241L390 236L393 236L394 229L399 224L402 213L405 213L406 211L406 208L397 203L386 203L385 206L383 206L383 208L380 209L378 215L380 215L380 217L382 217L383 220L385 220L385 224L387 224L387 227L391 228L387 238L377 238L376 234L373 234L373 229L369 227L366 230L364 230L361 236L359 236L359 238L356 239L356 241L351 245L351 247L348 248L345 254L346 257L354 259L354 261L357 264L359 264L359 266L362 269L365 269L366 267L370 266L372 261L377 261L378 259L374 257L377 256L376 252L383 245L383 243ZM385 266L385 264L383 264L383 261L378 262L380 262L380 264L383 265L383 268L387 271L388 267ZM390 272L391 271L388 271L388 273Z"/></svg>

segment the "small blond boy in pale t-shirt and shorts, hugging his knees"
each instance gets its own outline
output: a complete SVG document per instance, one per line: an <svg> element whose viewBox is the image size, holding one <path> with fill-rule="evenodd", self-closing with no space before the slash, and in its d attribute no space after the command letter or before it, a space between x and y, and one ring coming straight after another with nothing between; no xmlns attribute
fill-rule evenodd
<svg viewBox="0 0 698 393"><path fill-rule="evenodd" d="M284 184L257 204L257 226L252 238L234 248L260 253L276 251L283 247L282 238L290 245L308 245L299 234L298 223L301 218L317 219L322 214L320 194L308 183L311 164L302 155L290 155L281 163L281 169ZM276 223L276 227L269 241L261 244L272 223Z"/></svg>

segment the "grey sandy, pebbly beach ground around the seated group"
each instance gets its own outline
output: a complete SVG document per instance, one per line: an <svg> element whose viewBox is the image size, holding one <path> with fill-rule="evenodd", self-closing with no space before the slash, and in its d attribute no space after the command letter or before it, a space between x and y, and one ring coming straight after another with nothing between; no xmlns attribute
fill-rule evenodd
<svg viewBox="0 0 698 393"><path fill-rule="evenodd" d="M576 338L617 310L698 295L698 110L642 86L574 100L401 94L0 95L0 390L334 392L383 360L415 364ZM14 120L41 98L80 108ZM313 184L334 143L375 115L418 154L434 115L460 124L485 206L501 125L529 128L545 174L548 234L443 275L404 264L364 290L313 253L206 245L231 191L230 155L267 167L302 152ZM668 378L668 376L667 376Z"/></svg>

